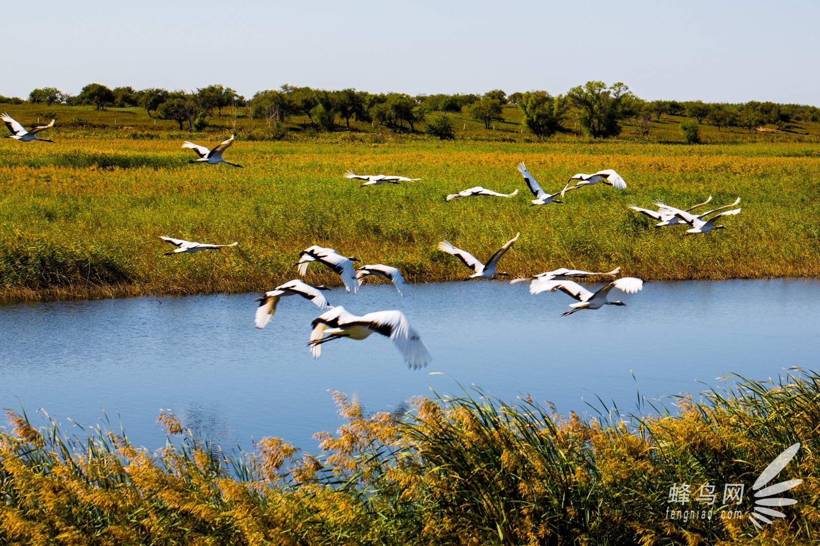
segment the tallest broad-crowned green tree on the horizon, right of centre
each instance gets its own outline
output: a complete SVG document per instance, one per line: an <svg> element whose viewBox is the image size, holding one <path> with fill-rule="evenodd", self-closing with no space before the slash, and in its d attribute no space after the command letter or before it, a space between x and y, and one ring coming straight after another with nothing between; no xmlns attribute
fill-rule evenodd
<svg viewBox="0 0 820 546"><path fill-rule="evenodd" d="M576 109L578 124L592 138L606 138L621 133L621 122L631 116L625 106L634 95L624 83L607 84L590 81L569 90L567 98Z"/></svg>

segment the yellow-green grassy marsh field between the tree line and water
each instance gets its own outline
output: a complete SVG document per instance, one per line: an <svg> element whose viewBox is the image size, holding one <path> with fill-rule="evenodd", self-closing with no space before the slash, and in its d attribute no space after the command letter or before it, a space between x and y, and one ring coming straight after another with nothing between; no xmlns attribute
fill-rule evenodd
<svg viewBox="0 0 820 546"><path fill-rule="evenodd" d="M645 279L768 278L820 274L820 124L786 133L717 131L682 144L665 116L649 137L626 127L621 138L591 141L572 133L539 140L521 131L517 110L485 130L453 115L457 140L397 134L377 124L321 133L294 119L289 135L263 140L264 124L243 113L214 116L202 133L152 120L139 109L2 105L23 124L57 117L46 138L0 141L0 297L129 296L257 291L295 278L299 250L332 246L363 263L394 264L408 280L467 276L443 239L486 259L516 232L501 268L512 275L557 267L608 270ZM244 165L189 165L183 140L211 146ZM807 134L803 134L807 133ZM515 165L548 192L577 172L613 168L629 187L598 184L567 194L563 205L529 206ZM418 183L360 188L342 177L403 174ZM481 185L511 199L444 196ZM727 229L681 237L657 230L626 208L655 200L685 208L742 198ZM157 237L230 243L228 250L165 256ZM310 282L338 284L322 268Z"/></svg>

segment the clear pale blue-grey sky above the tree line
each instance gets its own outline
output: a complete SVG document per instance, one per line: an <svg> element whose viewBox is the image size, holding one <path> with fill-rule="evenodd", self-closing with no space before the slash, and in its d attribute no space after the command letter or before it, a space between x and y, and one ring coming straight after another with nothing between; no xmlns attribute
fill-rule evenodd
<svg viewBox="0 0 820 546"><path fill-rule="evenodd" d="M820 2L2 2L0 94L282 83L820 106ZM25 37L20 39L19 37Z"/></svg>

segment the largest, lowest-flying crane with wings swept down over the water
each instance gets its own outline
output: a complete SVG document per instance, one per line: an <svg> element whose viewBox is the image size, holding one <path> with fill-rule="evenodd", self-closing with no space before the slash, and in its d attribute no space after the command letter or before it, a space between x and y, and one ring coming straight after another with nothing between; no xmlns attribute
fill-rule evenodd
<svg viewBox="0 0 820 546"><path fill-rule="evenodd" d="M307 345L313 357L321 356L321 344L349 337L363 340L373 333L387 336L404 356L411 368L421 368L430 362L430 351L401 311L377 311L357 317L344 307L334 307L313 320L313 331ZM327 336L325 336L327 334Z"/></svg>

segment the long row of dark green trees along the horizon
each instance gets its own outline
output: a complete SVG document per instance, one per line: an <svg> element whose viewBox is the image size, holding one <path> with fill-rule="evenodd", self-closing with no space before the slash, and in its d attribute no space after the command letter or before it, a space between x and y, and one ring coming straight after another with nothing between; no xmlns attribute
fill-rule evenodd
<svg viewBox="0 0 820 546"><path fill-rule="evenodd" d="M2 97L0 102L21 103L17 97ZM246 107L254 119L266 121L271 135L284 134L282 124L291 116L307 117L307 124L334 131L342 124L350 130L350 121L380 124L396 131L416 132L424 129L440 138L453 138L453 123L448 114L467 113L490 129L494 121L503 121L504 107L512 104L522 113L522 124L529 133L549 137L558 132L583 133L591 138L617 136L625 124L635 127L635 133L649 134L653 120L664 115L683 115L697 124L711 124L718 130L742 128L752 131L764 124L779 129L793 121L820 121L820 109L815 106L779 104L776 102L746 102L742 104L708 103L702 101L645 101L635 96L626 84L607 85L590 81L578 85L566 94L553 96L546 91L529 91L508 95L501 89L477 94L367 93L354 88L325 90L285 84L279 89L267 89L246 99L232 88L208 85L192 92L168 91L162 88L135 90L131 87L108 88L89 83L76 96L57 88L34 89L28 102L67 105L93 105L98 110L142 107L149 116L173 120L180 129L202 130L209 118L222 115L231 108L232 115ZM439 112L440 115L431 115ZM422 127L423 125L423 127Z"/></svg>

